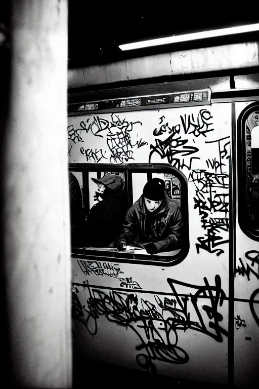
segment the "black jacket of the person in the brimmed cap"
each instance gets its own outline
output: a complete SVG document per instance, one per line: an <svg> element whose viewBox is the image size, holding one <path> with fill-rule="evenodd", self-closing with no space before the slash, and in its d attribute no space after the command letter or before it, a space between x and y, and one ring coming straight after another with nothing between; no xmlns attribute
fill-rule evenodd
<svg viewBox="0 0 259 389"><path fill-rule="evenodd" d="M95 204L85 221L83 245L109 246L118 237L126 214L123 192L105 189L104 200Z"/></svg>

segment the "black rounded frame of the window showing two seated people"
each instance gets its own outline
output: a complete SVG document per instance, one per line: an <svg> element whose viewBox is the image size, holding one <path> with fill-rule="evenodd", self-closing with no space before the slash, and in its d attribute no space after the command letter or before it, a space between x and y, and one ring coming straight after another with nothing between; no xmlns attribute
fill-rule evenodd
<svg viewBox="0 0 259 389"><path fill-rule="evenodd" d="M147 176L151 176L152 173L169 173L177 177L181 183L181 212L184 222L184 245L181 248L181 251L174 256L162 256L159 257L155 255L150 259L148 254L135 254L128 253L123 251L104 251L91 250L89 248L75 248L71 247L71 256L72 258L80 258L87 260L101 260L101 261L111 261L111 262L120 262L120 263L134 263L134 264L149 264L149 265L159 265L159 266L173 266L182 262L190 248L189 241L189 217L188 217L188 182L185 175L180 172L175 167L172 167L169 164L94 164L94 163L70 163L68 165L68 170L73 172L82 172L82 181L84 190L88 190L89 193L89 174L90 171L96 172L124 172L125 177L125 193L127 196L127 209L133 205L133 186L132 186L132 173L147 173ZM89 212L89 198L85 200L87 196L83 198L83 210L84 214ZM88 208L85 208L85 203L87 203ZM157 258L157 259L156 259ZM169 260L168 260L169 259Z"/></svg>

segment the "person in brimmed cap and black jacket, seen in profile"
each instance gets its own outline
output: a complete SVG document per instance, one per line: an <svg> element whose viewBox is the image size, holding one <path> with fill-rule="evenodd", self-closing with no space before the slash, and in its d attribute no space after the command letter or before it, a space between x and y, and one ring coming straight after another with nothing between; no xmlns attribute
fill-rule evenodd
<svg viewBox="0 0 259 389"><path fill-rule="evenodd" d="M117 238L125 214L123 181L119 175L106 172L100 179L92 178L98 185L102 201L95 204L85 221L82 244L107 247Z"/></svg>

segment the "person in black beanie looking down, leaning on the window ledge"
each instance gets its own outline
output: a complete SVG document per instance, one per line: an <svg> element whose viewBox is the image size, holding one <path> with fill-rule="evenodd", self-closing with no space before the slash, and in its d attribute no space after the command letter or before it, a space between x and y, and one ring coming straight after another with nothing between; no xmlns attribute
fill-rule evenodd
<svg viewBox="0 0 259 389"><path fill-rule="evenodd" d="M127 211L117 249L141 245L148 254L171 251L180 247L183 220L178 205L165 193L160 178L148 181L143 195Z"/></svg>

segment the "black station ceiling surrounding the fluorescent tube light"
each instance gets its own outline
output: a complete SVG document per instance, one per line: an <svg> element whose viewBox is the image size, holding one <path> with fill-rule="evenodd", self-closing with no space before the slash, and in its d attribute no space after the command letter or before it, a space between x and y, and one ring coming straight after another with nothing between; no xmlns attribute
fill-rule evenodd
<svg viewBox="0 0 259 389"><path fill-rule="evenodd" d="M254 33L249 36L229 36L213 38L204 42L182 43L173 48L163 46L159 48L139 49L138 51L121 52L118 45L123 43L148 40L156 37L178 35L208 29L232 27L243 24L257 23L259 18L255 12L248 14L242 10L239 15L227 15L223 10L220 18L212 18L214 12L210 7L196 8L194 13L188 3L176 12L176 8L168 8L165 3L154 4L152 14L134 10L137 3L124 3L120 12L112 5L107 7L103 3L91 5L88 1L69 0L68 2L68 67L76 68L90 64L103 64L123 58L138 57L168 50L182 50L202 46L217 46L219 44L234 43L237 41L254 40ZM176 4L176 3L174 3ZM147 3L148 5L148 3ZM215 6L216 4L214 4ZM127 10L127 7L129 10ZM160 7L160 9L159 9ZM148 7L147 7L148 8ZM116 11L114 11L116 9ZM134 12L132 12L134 11ZM240 15L241 14L241 15ZM258 37L257 37L258 38ZM196 46L197 47L197 46Z"/></svg>

